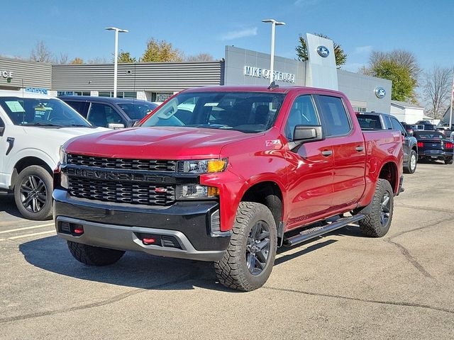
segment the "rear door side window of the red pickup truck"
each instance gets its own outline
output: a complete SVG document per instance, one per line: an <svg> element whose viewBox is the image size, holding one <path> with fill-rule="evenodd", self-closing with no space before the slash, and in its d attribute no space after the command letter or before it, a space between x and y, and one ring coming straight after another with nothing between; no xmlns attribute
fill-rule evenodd
<svg viewBox="0 0 454 340"><path fill-rule="evenodd" d="M351 130L351 125L342 99L331 96L319 96L319 103L326 123L326 135L346 135Z"/></svg>

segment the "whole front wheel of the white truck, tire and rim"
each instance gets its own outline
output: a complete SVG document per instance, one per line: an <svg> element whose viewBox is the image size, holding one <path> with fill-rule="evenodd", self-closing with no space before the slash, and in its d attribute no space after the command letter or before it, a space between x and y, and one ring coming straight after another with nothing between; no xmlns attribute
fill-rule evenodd
<svg viewBox="0 0 454 340"><path fill-rule="evenodd" d="M23 169L14 185L14 200L28 220L48 220L52 217L52 176L41 166Z"/></svg>

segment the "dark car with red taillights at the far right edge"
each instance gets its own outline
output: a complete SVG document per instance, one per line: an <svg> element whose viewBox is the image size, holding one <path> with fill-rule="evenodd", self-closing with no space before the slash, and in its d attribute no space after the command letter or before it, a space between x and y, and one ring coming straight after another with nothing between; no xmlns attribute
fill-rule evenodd
<svg viewBox="0 0 454 340"><path fill-rule="evenodd" d="M453 164L453 142L445 139L441 132L416 131L419 159L442 160L445 164Z"/></svg>

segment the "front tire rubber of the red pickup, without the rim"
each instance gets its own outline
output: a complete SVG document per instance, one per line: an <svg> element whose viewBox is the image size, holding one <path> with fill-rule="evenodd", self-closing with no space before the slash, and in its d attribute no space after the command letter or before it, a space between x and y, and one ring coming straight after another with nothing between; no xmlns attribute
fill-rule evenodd
<svg viewBox="0 0 454 340"><path fill-rule="evenodd" d="M269 227L270 251L262 272L253 275L246 261L246 247L251 229L257 222L265 222ZM270 277L275 263L277 248L277 229L270 209L253 202L241 202L236 212L235 223L228 249L220 261L214 263L219 283L228 288L250 291L262 287Z"/></svg>

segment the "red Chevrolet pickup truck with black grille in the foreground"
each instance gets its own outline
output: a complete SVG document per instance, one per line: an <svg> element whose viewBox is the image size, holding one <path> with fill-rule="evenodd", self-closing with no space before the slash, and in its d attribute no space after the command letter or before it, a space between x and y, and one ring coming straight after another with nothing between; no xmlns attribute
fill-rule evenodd
<svg viewBox="0 0 454 340"><path fill-rule="evenodd" d="M344 94L215 86L180 92L137 128L67 142L54 217L87 265L126 250L214 261L223 285L253 290L278 246L354 222L382 237L401 186L401 132L362 132Z"/></svg>

